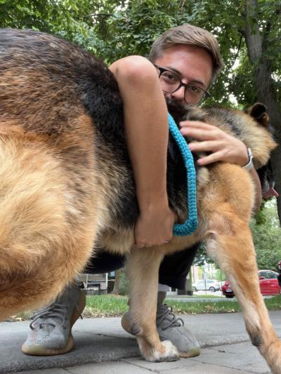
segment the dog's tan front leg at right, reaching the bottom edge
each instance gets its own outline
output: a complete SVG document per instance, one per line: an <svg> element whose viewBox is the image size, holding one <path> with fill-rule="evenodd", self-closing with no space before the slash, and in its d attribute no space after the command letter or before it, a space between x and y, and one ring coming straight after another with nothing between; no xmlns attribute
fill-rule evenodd
<svg viewBox="0 0 281 374"><path fill-rule="evenodd" d="M281 343L261 296L254 244L247 222L230 213L229 207L213 213L207 251L216 258L233 287L252 344L258 347L272 372L280 374Z"/></svg>

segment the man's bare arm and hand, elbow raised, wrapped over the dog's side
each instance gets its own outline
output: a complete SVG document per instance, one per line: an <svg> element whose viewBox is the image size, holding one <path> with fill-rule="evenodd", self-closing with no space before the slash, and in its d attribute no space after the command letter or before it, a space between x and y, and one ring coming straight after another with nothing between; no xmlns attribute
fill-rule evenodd
<svg viewBox="0 0 281 374"><path fill-rule="evenodd" d="M141 56L114 62L124 102L124 126L136 182L140 215L136 246L156 246L171 240L176 215L166 194L168 114L155 67Z"/></svg>

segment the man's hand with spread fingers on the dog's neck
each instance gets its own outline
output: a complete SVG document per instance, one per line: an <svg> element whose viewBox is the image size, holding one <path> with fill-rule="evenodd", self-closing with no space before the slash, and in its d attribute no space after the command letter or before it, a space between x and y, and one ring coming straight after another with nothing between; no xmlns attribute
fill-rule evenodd
<svg viewBox="0 0 281 374"><path fill-rule="evenodd" d="M246 145L220 128L201 121L183 121L180 123L180 127L183 136L199 140L188 144L190 151L211 152L198 159L198 165L204 166L216 161L236 163L240 166L248 163L249 156Z"/></svg>

